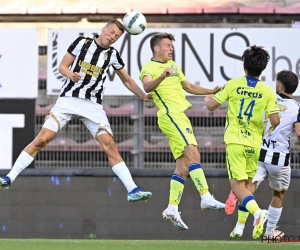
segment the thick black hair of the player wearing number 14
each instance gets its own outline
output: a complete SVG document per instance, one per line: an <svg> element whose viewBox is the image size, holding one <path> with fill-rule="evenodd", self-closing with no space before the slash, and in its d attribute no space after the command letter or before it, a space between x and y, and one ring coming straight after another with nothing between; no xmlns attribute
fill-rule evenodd
<svg viewBox="0 0 300 250"><path fill-rule="evenodd" d="M253 45L244 51L242 59L248 75L255 77L260 76L267 67L270 55L263 47Z"/></svg>

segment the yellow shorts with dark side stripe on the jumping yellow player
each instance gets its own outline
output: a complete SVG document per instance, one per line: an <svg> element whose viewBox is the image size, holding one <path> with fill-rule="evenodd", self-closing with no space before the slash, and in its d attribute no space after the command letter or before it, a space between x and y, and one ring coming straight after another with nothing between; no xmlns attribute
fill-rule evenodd
<svg viewBox="0 0 300 250"><path fill-rule="evenodd" d="M185 113L165 114L158 117L158 126L169 140L172 154L176 159L182 156L185 146L198 146L192 124Z"/></svg>

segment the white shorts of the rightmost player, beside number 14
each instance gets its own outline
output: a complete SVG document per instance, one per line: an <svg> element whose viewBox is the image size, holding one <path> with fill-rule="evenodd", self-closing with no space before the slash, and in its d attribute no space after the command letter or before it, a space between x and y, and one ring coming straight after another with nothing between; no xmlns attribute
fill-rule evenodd
<svg viewBox="0 0 300 250"><path fill-rule="evenodd" d="M258 186L266 177L268 177L269 185L272 189L276 191L287 190L291 182L291 167L277 166L259 161L252 183L257 182Z"/></svg>

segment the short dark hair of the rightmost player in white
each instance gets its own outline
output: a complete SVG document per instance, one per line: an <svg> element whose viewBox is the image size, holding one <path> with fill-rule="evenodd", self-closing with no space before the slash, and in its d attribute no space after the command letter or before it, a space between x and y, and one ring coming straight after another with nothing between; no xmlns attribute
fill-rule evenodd
<svg viewBox="0 0 300 250"><path fill-rule="evenodd" d="M287 94L293 94L299 83L298 76L289 70L282 70L277 73L276 80L281 82L284 86L284 92Z"/></svg>

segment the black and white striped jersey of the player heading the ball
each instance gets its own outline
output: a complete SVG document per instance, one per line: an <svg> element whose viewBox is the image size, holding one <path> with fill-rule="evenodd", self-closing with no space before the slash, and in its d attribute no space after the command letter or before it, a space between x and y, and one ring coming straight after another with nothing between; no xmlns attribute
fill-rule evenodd
<svg viewBox="0 0 300 250"><path fill-rule="evenodd" d="M83 36L70 45L68 52L75 56L70 69L79 72L81 79L73 82L67 78L59 96L85 98L101 104L108 68L112 66L118 70L124 67L119 52L113 47L100 47L94 37Z"/></svg>

